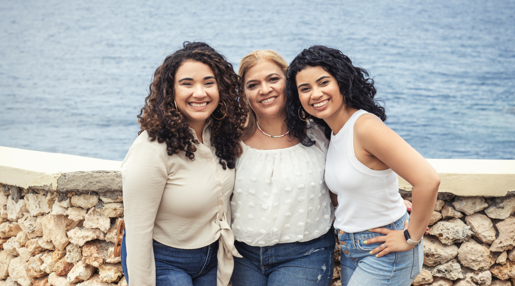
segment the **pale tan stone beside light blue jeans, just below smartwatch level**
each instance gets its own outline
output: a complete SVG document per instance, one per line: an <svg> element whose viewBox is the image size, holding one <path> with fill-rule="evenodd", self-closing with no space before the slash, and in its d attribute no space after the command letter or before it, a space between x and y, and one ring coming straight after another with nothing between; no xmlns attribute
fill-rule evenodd
<svg viewBox="0 0 515 286"><path fill-rule="evenodd" d="M442 244L434 236L424 237L424 264L434 266L447 262L458 255L458 246Z"/></svg>

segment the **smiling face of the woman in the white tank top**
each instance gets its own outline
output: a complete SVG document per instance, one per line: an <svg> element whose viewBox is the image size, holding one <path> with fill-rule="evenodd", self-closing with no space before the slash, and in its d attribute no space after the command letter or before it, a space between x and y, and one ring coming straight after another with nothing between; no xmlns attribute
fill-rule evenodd
<svg viewBox="0 0 515 286"><path fill-rule="evenodd" d="M326 119L345 109L338 82L321 66L306 67L295 79L300 102L307 113Z"/></svg>

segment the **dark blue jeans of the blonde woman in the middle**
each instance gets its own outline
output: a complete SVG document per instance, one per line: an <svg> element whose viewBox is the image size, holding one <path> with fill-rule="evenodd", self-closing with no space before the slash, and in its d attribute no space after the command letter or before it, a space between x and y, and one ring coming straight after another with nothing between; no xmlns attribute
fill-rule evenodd
<svg viewBox="0 0 515 286"><path fill-rule="evenodd" d="M233 286L329 286L334 269L334 229L306 242L250 246L234 242Z"/></svg>

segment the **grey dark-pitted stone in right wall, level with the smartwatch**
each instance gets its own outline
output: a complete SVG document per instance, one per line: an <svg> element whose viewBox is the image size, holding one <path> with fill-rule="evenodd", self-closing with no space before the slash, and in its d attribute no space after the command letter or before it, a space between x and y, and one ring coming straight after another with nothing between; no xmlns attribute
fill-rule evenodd
<svg viewBox="0 0 515 286"><path fill-rule="evenodd" d="M470 230L470 226L461 220L452 219L437 222L429 229L429 234L438 237L443 244L451 245L467 241L474 233Z"/></svg>

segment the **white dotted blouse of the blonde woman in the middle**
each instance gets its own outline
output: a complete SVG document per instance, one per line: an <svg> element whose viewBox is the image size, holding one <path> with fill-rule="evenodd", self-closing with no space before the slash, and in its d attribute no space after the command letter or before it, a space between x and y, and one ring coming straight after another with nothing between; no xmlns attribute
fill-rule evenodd
<svg viewBox="0 0 515 286"><path fill-rule="evenodd" d="M323 181L329 140L317 124L309 126L307 136L316 142L311 147L258 150L242 142L231 201L236 240L252 246L304 242L331 227L334 208Z"/></svg>

